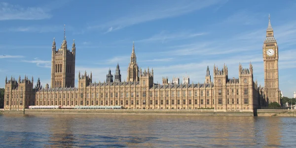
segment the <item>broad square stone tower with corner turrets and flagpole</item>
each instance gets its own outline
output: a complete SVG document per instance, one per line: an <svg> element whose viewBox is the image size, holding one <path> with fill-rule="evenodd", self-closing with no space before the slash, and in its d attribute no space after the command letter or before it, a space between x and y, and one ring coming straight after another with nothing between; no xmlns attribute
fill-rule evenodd
<svg viewBox="0 0 296 148"><path fill-rule="evenodd" d="M72 51L67 48L65 28L64 40L60 49L56 50L55 38L53 38L51 54L51 88L74 87L75 50L74 40Z"/></svg>

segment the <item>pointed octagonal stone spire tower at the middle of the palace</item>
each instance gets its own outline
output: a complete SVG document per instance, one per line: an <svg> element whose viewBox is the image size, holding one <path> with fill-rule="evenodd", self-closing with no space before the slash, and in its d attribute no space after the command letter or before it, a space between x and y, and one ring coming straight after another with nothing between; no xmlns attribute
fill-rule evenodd
<svg viewBox="0 0 296 148"><path fill-rule="evenodd" d="M135 43L133 42L133 51L131 55L131 62L127 68L127 81L140 81L139 79L139 67L137 64L137 57L135 53Z"/></svg>

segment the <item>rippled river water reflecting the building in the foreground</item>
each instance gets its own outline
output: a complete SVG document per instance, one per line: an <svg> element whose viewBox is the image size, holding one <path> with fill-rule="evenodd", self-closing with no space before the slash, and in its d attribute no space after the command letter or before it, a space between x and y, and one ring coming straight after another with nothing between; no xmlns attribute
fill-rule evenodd
<svg viewBox="0 0 296 148"><path fill-rule="evenodd" d="M296 118L0 115L0 148L295 147Z"/></svg>

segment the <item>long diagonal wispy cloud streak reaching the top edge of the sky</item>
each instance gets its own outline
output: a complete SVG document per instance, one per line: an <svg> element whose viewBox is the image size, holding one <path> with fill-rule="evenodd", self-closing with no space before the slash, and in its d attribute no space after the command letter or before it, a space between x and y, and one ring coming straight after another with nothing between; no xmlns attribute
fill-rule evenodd
<svg viewBox="0 0 296 148"><path fill-rule="evenodd" d="M190 2L169 2L163 4L162 7L157 7L146 12L133 12L133 15L124 16L104 24L89 26L87 29L107 29L107 32L111 32L148 21L181 16L205 7L209 7L211 5L218 4L221 1L223 0L193 0Z"/></svg>

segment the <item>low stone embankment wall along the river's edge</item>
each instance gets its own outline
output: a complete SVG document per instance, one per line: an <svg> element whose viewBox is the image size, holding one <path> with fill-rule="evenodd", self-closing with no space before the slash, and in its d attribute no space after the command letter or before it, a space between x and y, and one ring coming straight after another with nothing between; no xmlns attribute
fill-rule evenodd
<svg viewBox="0 0 296 148"><path fill-rule="evenodd" d="M207 116L296 116L295 110L214 111L214 110L62 110L34 109L0 111L3 114L143 114L143 115L207 115Z"/></svg>

